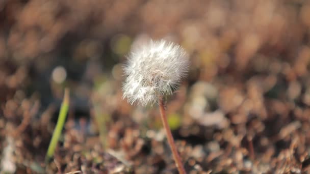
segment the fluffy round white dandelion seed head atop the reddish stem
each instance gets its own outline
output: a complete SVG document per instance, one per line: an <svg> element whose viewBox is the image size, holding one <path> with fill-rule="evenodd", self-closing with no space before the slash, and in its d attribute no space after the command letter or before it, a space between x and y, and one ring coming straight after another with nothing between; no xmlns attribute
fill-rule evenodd
<svg viewBox="0 0 310 174"><path fill-rule="evenodd" d="M159 96L171 95L187 75L189 59L185 50L165 40L136 47L124 65L123 98L130 104L153 104Z"/></svg>

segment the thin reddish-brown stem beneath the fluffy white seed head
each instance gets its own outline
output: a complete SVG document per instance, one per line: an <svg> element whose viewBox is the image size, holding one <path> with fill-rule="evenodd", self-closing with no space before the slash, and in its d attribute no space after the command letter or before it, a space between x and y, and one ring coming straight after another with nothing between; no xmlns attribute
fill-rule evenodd
<svg viewBox="0 0 310 174"><path fill-rule="evenodd" d="M180 156L178 155L178 152L176 150L176 147L175 147L175 144L174 144L174 140L173 140L173 136L172 136L171 130L170 130L169 125L168 125L166 110L165 110L165 107L164 107L163 96L160 96L160 98L159 98L159 109L160 109L160 113L161 113L161 119L162 119L165 131L166 131L166 134L167 134L168 143L169 143L169 146L171 148L172 156L173 156L174 161L175 161L175 165L176 165L177 170L178 170L178 172L180 174L185 174L186 171L185 171L185 169L183 167L183 164L182 164L182 161L180 159Z"/></svg>

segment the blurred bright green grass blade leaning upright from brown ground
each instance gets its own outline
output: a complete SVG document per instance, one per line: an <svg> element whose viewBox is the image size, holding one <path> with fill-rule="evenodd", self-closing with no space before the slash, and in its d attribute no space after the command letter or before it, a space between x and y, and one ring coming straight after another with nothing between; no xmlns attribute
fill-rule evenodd
<svg viewBox="0 0 310 174"><path fill-rule="evenodd" d="M45 156L45 162L47 162L54 155L55 148L57 146L57 142L61 135L62 129L64 127L64 123L67 117L68 109L69 109L69 89L65 89L65 94L63 98L63 102L61 104L60 112L58 115L58 120L56 124L56 128L54 130L53 136L49 142L49 146L47 149L47 153Z"/></svg>

